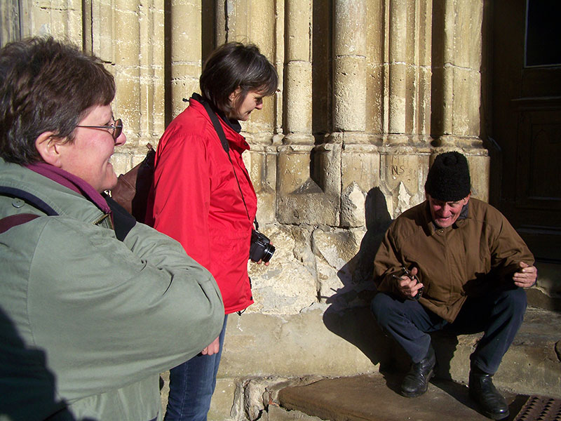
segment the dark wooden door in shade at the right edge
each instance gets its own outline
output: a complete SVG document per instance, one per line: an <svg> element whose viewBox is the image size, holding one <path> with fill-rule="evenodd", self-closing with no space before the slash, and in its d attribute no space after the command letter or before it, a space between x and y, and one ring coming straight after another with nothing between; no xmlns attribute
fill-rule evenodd
<svg viewBox="0 0 561 421"><path fill-rule="evenodd" d="M558 0L492 11L491 198L538 262L561 265L561 36Z"/></svg>

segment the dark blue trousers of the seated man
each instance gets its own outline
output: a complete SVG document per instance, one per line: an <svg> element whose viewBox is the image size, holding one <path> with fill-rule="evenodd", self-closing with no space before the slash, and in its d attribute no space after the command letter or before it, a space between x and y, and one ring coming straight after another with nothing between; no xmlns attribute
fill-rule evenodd
<svg viewBox="0 0 561 421"><path fill-rule="evenodd" d="M429 332L445 327L461 333L485 332L470 359L485 373L494 374L522 325L526 292L515 288L468 298L454 323L448 323L418 301L385 293L378 293L370 308L381 329L403 347L414 363L426 356L431 343Z"/></svg>

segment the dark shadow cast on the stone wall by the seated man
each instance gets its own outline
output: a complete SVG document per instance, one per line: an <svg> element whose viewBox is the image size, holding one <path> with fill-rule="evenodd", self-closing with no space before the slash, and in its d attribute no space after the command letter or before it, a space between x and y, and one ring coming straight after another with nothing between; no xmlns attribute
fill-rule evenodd
<svg viewBox="0 0 561 421"><path fill-rule="evenodd" d="M374 255L393 222L386 197L378 187L366 196L365 220L366 234L360 249L337 273L343 287L327 298L330 307L323 314L323 323L332 333L358 347L373 364L380 363L380 371L384 371L403 366L407 356L381 332L370 312L376 292L372 279Z"/></svg>

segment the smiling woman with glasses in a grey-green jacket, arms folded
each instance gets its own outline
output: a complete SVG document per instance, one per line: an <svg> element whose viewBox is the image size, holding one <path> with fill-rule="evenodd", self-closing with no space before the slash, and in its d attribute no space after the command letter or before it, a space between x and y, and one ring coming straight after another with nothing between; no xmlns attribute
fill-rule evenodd
<svg viewBox="0 0 561 421"><path fill-rule="evenodd" d="M210 273L102 195L114 95L73 46L0 51L0 420L161 420L158 373L222 328Z"/></svg>

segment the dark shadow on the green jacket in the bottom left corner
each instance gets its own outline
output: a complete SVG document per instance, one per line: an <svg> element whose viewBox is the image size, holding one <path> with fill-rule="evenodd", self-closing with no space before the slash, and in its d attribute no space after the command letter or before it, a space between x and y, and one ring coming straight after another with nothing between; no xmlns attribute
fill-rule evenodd
<svg viewBox="0 0 561 421"><path fill-rule="evenodd" d="M55 400L55 381L45 352L26 347L0 307L0 418L75 421L66 403Z"/></svg>

